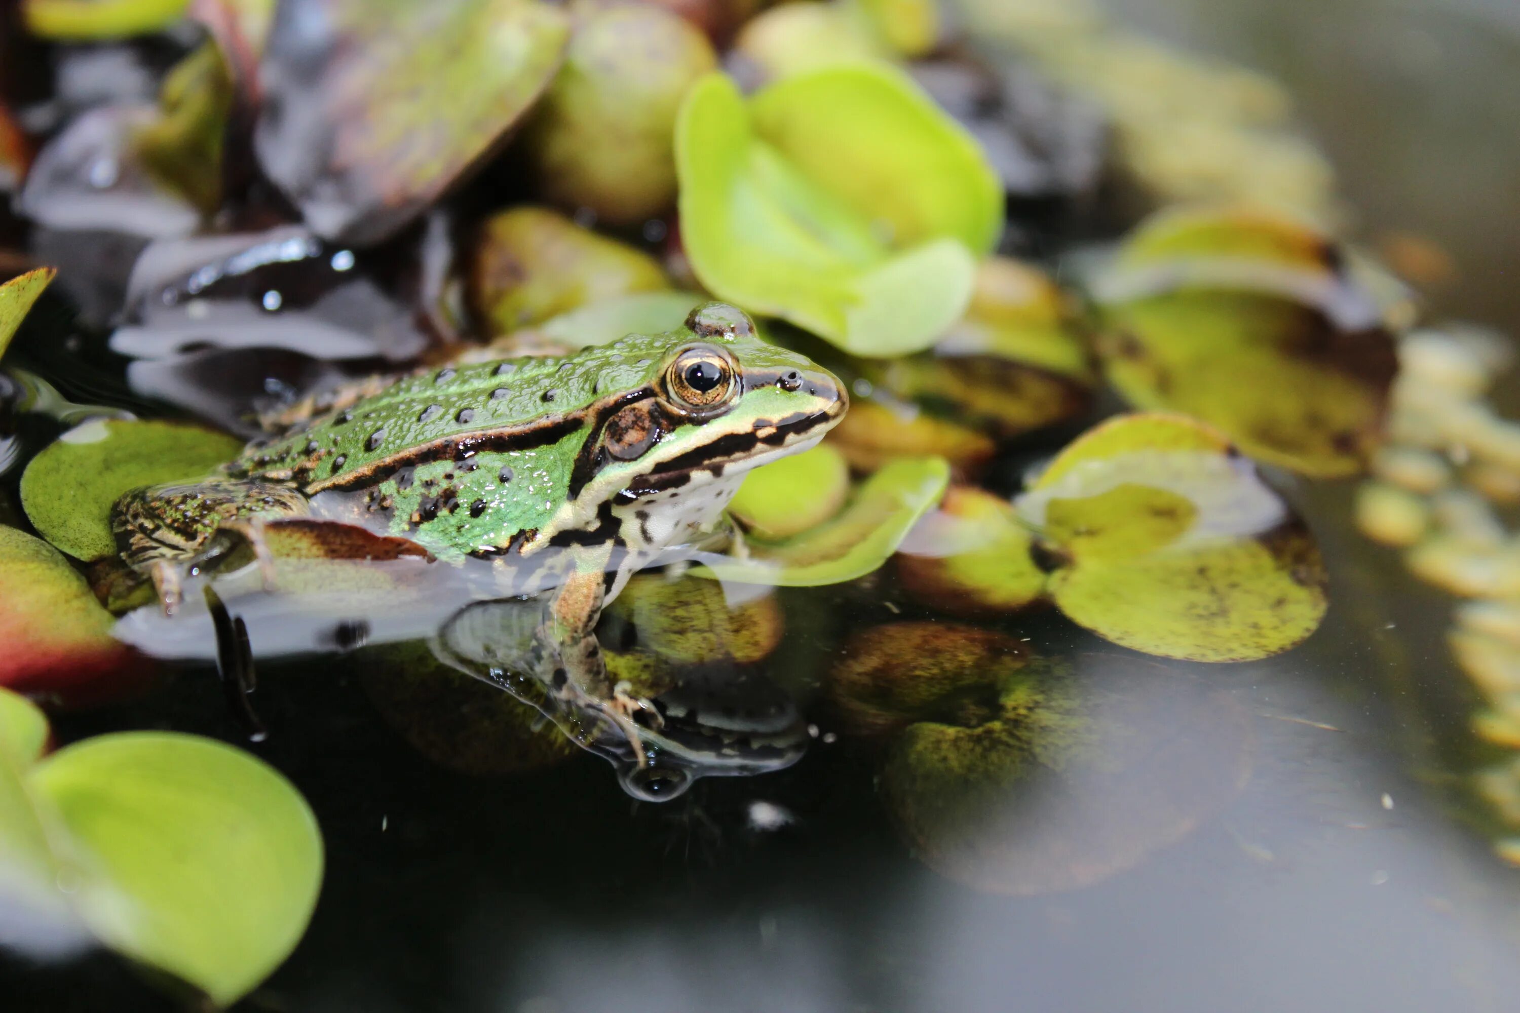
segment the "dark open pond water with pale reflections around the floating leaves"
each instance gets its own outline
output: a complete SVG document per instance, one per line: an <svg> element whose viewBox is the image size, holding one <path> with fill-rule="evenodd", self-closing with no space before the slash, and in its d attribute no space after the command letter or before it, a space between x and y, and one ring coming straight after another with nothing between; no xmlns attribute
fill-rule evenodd
<svg viewBox="0 0 1520 1013"><path fill-rule="evenodd" d="M1224 18L1161 6L1137 3L1137 17L1300 90L1370 229L1421 229L1456 254L1465 270L1444 308L1520 327L1499 269L1520 234L1520 146L1491 129L1514 111L1500 96L1520 94L1520 43L1499 21L1345 0L1315 6L1322 20L1301 33L1298 5ZM1436 56L1363 52L1385 36ZM1327 38L1356 44L1324 59ZM36 363L68 374L68 396L114 402L111 368L67 371L94 352L64 345ZM1473 828L1459 781L1487 755L1442 641L1452 603L1354 533L1350 486L1286 491L1332 577L1325 624L1287 655L1163 664L1052 614L990 624L1069 658L1076 693L1128 743L1113 768L1043 785L1000 817L1014 858L924 854L880 791L880 747L836 735L819 685L848 635L935 618L891 571L859 591L781 594L787 638L766 674L816 724L801 761L704 779L666 805L632 800L591 755L518 778L447 770L382 714L357 659L263 662L271 735L251 749L318 813L327 875L295 955L237 1008L1520 1008L1520 881ZM246 741L210 667L58 732L128 726ZM1020 895L962 882L999 875ZM0 995L27 1013L176 1008L106 955L0 958Z"/></svg>

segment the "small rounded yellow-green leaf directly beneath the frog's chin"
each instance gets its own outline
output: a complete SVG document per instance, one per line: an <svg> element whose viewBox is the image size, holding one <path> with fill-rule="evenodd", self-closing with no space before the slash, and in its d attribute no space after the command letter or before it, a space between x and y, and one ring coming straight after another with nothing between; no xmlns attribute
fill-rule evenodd
<svg viewBox="0 0 1520 1013"><path fill-rule="evenodd" d="M755 468L728 512L755 538L778 541L822 524L850 495L850 462L824 443Z"/></svg>

